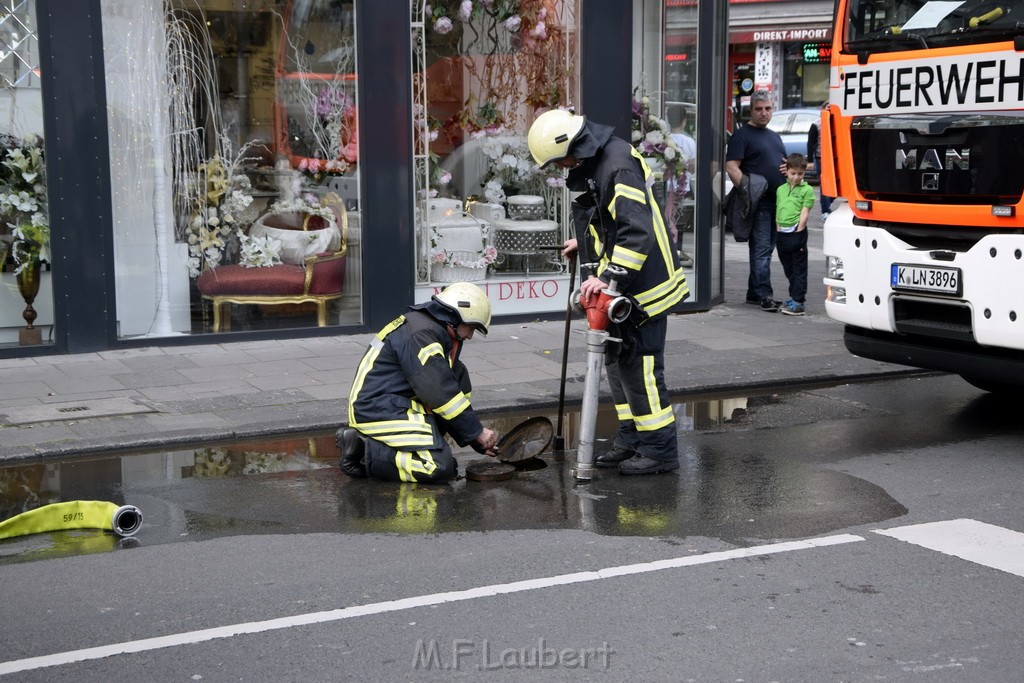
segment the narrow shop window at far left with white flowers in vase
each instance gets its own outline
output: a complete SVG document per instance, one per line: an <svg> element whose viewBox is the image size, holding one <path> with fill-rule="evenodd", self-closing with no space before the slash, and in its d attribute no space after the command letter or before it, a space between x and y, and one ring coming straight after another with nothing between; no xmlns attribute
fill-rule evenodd
<svg viewBox="0 0 1024 683"><path fill-rule="evenodd" d="M36 3L0 8L0 347L53 340Z"/></svg>

